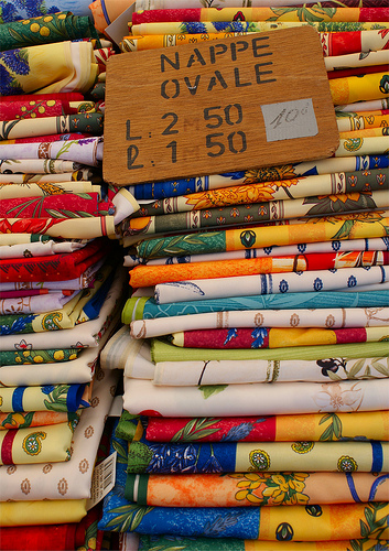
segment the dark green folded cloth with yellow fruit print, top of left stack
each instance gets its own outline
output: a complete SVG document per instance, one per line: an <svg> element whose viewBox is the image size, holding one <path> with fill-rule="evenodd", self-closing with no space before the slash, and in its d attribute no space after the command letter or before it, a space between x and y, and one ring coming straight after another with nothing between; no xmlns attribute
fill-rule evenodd
<svg viewBox="0 0 389 551"><path fill-rule="evenodd" d="M72 12L50 13L0 25L0 51L84 37L96 39L99 43L89 18Z"/></svg>

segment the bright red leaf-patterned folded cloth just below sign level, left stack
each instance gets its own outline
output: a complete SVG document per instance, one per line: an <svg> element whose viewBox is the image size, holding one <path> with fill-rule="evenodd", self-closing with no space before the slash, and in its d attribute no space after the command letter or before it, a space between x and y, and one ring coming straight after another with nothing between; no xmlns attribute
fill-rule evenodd
<svg viewBox="0 0 389 551"><path fill-rule="evenodd" d="M106 216L108 209L114 214L114 204L110 201L100 202L100 194L97 192L14 197L0 202L1 218L85 218Z"/></svg>

